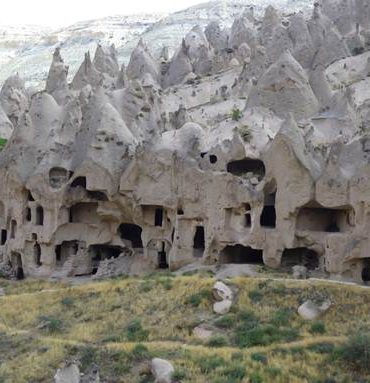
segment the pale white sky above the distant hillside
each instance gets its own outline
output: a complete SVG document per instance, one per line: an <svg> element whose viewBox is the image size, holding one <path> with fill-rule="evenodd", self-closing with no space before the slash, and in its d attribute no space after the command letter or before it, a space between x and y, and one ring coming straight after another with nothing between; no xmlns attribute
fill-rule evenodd
<svg viewBox="0 0 370 383"><path fill-rule="evenodd" d="M2 0L1 2L3 2ZM169 13L206 0L8 0L0 25L66 26L76 21L133 13Z"/></svg>

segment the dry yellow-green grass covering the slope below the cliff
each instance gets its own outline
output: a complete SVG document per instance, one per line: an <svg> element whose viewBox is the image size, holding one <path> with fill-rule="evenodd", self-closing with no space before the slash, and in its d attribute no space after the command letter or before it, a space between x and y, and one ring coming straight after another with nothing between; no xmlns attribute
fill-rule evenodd
<svg viewBox="0 0 370 383"><path fill-rule="evenodd" d="M238 294L231 324L228 329L215 328L228 346L210 348L192 329L202 322L214 325L213 283L213 278L198 275L80 286L3 281L0 285L8 295L0 298L0 382L50 382L68 358L81 360L82 370L96 362L104 381L150 382L139 371L145 371L143 363L154 355L183 371L181 382L320 382L328 377L353 381L353 372L330 362L331 345L356 329L370 328L370 289L325 281L233 279L229 283ZM322 318L324 334L312 335L311 323L296 314L307 298L333 302ZM238 319L244 311L252 312L262 326L294 329L297 336L239 348L235 328L245 323ZM127 326L135 319L143 332L129 342ZM137 355L138 343L147 348L143 354ZM256 353L262 357L253 356Z"/></svg>

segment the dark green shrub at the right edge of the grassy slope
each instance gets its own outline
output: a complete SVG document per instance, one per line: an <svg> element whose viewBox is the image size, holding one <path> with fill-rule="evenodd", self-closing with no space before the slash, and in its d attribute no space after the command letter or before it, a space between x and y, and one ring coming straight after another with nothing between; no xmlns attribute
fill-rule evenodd
<svg viewBox="0 0 370 383"><path fill-rule="evenodd" d="M353 371L370 373L370 332L351 336L335 354Z"/></svg>

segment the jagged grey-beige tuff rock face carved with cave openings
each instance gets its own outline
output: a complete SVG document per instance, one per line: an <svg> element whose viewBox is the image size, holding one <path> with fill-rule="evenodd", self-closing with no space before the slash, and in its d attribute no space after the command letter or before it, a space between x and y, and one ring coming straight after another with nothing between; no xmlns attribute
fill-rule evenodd
<svg viewBox="0 0 370 383"><path fill-rule="evenodd" d="M140 41L127 68L99 46L70 84L58 50L42 92L9 78L2 269L264 263L369 282L369 7L346 4L247 10L159 61Z"/></svg>

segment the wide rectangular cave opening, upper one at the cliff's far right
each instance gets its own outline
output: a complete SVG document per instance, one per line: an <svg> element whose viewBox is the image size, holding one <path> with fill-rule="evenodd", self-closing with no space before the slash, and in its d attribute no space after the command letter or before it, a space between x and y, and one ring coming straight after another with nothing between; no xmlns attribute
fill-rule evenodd
<svg viewBox="0 0 370 383"><path fill-rule="evenodd" d="M328 209L318 204L302 207L297 216L297 229L338 233L350 225L351 209Z"/></svg>

